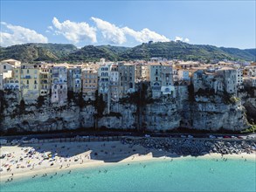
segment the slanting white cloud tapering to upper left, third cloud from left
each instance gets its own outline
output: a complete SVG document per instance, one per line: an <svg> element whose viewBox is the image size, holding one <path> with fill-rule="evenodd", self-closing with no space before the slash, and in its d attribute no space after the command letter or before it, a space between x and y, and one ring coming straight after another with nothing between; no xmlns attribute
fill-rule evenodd
<svg viewBox="0 0 256 192"><path fill-rule="evenodd" d="M114 24L110 24L107 21L103 21L100 18L91 17L93 22L95 22L97 28L101 31L103 38L111 44L123 44L126 42L126 37L124 32Z"/></svg>

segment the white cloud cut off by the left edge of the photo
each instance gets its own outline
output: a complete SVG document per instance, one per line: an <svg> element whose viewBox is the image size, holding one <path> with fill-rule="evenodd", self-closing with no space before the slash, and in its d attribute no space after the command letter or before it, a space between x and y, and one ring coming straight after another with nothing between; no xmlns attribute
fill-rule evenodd
<svg viewBox="0 0 256 192"><path fill-rule="evenodd" d="M1 22L3 26L8 30L7 32L0 31L0 45L10 46L26 43L47 43L48 39L37 33L36 31L24 28L22 26L7 24Z"/></svg>

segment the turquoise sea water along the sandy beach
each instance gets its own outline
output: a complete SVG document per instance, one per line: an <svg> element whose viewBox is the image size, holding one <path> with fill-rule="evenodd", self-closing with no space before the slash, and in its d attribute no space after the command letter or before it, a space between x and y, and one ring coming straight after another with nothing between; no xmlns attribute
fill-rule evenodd
<svg viewBox="0 0 256 192"><path fill-rule="evenodd" d="M124 163L2 182L0 191L255 191L255 162L185 158Z"/></svg>

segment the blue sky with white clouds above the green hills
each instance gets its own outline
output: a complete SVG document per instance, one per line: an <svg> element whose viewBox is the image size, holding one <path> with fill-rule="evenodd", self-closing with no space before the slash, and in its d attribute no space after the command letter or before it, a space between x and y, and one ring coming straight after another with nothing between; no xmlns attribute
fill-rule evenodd
<svg viewBox="0 0 256 192"><path fill-rule="evenodd" d="M2 46L29 42L134 46L183 40L255 48L255 1L5 1Z"/></svg>

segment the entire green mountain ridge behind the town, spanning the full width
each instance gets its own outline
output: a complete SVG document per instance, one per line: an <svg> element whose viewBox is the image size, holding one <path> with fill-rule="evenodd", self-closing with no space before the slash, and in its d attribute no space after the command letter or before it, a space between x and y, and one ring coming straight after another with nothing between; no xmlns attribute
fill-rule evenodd
<svg viewBox="0 0 256 192"><path fill-rule="evenodd" d="M149 42L135 47L86 45L80 49L70 44L24 44L0 47L0 60L14 58L22 62L99 61L100 58L107 58L110 61L147 60L156 57L204 61L212 59L256 61L256 49L190 45L181 41Z"/></svg>

